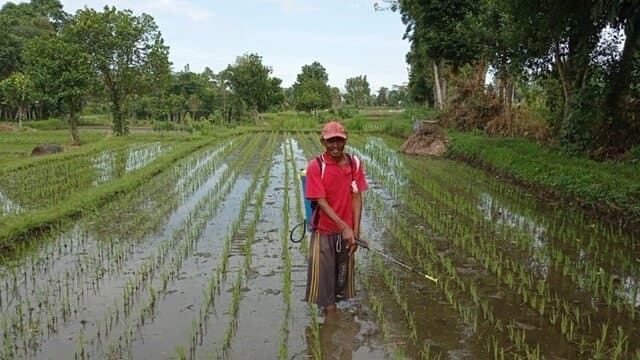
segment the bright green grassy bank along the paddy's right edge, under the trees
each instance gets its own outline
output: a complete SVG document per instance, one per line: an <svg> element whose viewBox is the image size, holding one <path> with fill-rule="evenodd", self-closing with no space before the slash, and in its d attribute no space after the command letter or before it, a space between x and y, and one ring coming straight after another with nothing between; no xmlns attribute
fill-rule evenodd
<svg viewBox="0 0 640 360"><path fill-rule="evenodd" d="M449 155L479 162L519 182L552 190L581 205L612 209L640 220L640 165L596 162L552 146L480 132L449 131Z"/></svg>

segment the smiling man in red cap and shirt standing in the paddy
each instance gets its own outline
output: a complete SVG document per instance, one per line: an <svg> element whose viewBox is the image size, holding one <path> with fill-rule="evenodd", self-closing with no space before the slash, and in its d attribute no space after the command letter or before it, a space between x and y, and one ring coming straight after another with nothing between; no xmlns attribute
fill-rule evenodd
<svg viewBox="0 0 640 360"><path fill-rule="evenodd" d="M367 181L360 159L344 152L347 132L330 121L322 128L325 151L309 162L306 198L317 203L312 215L305 301L335 314L336 297L354 296L354 252L358 249L362 192Z"/></svg>

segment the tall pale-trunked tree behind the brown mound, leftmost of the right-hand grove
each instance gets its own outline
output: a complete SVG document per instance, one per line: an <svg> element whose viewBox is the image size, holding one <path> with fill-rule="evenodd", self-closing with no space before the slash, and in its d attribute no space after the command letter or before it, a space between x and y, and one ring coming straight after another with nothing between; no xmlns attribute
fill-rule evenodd
<svg viewBox="0 0 640 360"><path fill-rule="evenodd" d="M489 1L477 0L403 0L385 1L399 9L407 25L405 38L411 42L407 56L410 90L418 102L427 102L426 91L435 90L435 103L443 108L449 102L449 78L456 77L464 65L472 65L484 85L490 39L486 12ZM429 76L428 72L432 72ZM433 86L424 81L432 79Z"/></svg>

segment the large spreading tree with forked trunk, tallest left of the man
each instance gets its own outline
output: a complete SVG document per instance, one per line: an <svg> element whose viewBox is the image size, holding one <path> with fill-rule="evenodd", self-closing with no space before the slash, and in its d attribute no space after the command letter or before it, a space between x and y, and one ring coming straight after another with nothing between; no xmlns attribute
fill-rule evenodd
<svg viewBox="0 0 640 360"><path fill-rule="evenodd" d="M115 7L105 7L103 12L85 8L78 10L65 30L89 54L93 70L102 79L111 103L114 134L126 135L127 101L162 87L169 74L169 50L153 18Z"/></svg>

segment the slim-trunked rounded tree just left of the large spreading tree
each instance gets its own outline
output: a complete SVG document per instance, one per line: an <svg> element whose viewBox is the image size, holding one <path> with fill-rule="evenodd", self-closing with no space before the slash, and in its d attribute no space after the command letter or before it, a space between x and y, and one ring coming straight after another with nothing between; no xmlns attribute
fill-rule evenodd
<svg viewBox="0 0 640 360"><path fill-rule="evenodd" d="M59 37L30 42L23 56L40 97L69 116L73 144L80 145L78 116L94 81L89 56Z"/></svg>

